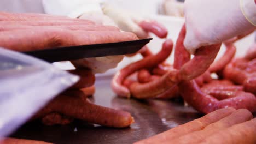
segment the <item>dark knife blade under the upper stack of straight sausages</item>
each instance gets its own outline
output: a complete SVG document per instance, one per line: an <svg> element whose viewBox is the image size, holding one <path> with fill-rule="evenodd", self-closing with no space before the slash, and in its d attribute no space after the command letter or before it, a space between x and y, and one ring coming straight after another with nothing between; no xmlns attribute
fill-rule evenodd
<svg viewBox="0 0 256 144"><path fill-rule="evenodd" d="M144 45L148 44L150 40L152 40L152 38L122 41L118 43L59 47L23 53L48 62L69 61L80 58L127 55L135 53Z"/></svg>

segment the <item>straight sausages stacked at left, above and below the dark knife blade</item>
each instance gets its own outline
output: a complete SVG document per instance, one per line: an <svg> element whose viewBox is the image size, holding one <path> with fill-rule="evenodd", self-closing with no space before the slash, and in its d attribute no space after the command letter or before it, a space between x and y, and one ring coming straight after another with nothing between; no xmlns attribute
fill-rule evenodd
<svg viewBox="0 0 256 144"><path fill-rule="evenodd" d="M88 20L45 14L0 13L0 39L1 47L24 52L138 38L133 33L121 32L117 27L95 25ZM87 99L94 93L95 75L90 69L77 67L68 72L79 75L80 80L51 100L31 120L42 119L44 124L54 125L80 119L118 128L133 122L130 113L95 105Z"/></svg>

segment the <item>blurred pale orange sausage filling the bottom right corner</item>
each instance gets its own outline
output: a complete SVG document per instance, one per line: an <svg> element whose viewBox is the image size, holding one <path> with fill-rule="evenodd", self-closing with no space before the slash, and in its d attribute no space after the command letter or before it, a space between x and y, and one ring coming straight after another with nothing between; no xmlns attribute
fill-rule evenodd
<svg viewBox="0 0 256 144"><path fill-rule="evenodd" d="M256 118L206 137L201 143L256 143Z"/></svg>

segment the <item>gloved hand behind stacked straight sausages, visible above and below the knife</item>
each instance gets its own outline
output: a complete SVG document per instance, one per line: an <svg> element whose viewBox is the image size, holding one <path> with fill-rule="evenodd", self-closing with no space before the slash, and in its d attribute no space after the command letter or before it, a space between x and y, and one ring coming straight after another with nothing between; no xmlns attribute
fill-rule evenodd
<svg viewBox="0 0 256 144"><path fill-rule="evenodd" d="M158 22L143 20L140 17L136 17L135 14L112 7L106 3L102 4L102 11L95 10L84 13L79 19L91 20L98 25L118 26L121 30L133 32L137 37L142 39L147 38L149 32L154 33L159 38L166 38L167 36L167 29ZM72 61L72 64L75 67L81 67L82 65L88 67L92 69L93 73L104 73L109 69L117 67L123 57L124 56L84 58L78 61Z"/></svg>

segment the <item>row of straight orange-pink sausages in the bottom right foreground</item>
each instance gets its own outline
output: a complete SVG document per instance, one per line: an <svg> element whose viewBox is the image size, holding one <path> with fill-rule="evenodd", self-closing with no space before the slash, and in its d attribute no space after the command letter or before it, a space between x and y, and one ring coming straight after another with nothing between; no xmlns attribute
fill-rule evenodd
<svg viewBox="0 0 256 144"><path fill-rule="evenodd" d="M255 143L256 118L252 118L252 113L246 109L219 109L136 144Z"/></svg>

